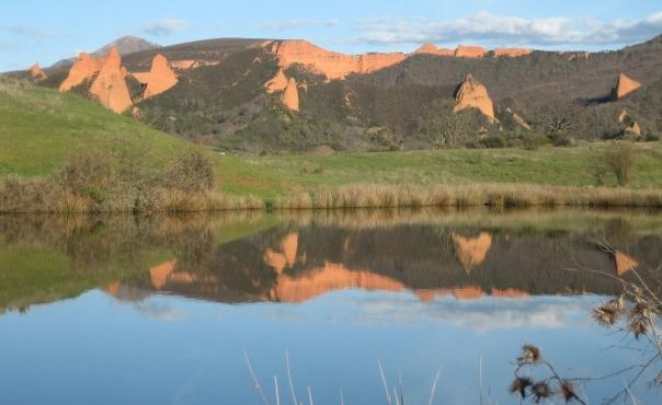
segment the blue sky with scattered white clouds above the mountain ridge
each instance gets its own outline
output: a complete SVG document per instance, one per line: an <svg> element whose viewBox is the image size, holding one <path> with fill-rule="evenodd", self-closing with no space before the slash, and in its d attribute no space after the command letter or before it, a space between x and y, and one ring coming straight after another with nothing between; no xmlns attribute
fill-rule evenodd
<svg viewBox="0 0 662 405"><path fill-rule="evenodd" d="M0 71L48 66L122 35L161 45L306 38L333 50L440 46L613 49L662 34L659 0L21 0L0 5Z"/></svg>

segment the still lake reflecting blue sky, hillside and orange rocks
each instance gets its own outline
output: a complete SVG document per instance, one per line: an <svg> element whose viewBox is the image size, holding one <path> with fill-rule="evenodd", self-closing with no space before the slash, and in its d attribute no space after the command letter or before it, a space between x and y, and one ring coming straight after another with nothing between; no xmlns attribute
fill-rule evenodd
<svg viewBox="0 0 662 405"><path fill-rule="evenodd" d="M393 404L440 368L435 404L520 403L525 343L567 378L647 361L591 310L661 264L660 212L0 216L0 404L263 404L244 354L270 404L286 354L306 404L387 403L378 362Z"/></svg>

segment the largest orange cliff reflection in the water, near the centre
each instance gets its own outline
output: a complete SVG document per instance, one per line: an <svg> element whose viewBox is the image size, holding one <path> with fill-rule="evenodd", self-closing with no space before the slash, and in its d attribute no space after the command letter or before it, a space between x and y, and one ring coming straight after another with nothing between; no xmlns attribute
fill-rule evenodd
<svg viewBox="0 0 662 405"><path fill-rule="evenodd" d="M343 264L327 263L298 278L278 276L270 299L281 302L304 302L328 291L349 288L364 290L401 291L404 285L392 278L367 270L351 270Z"/></svg>

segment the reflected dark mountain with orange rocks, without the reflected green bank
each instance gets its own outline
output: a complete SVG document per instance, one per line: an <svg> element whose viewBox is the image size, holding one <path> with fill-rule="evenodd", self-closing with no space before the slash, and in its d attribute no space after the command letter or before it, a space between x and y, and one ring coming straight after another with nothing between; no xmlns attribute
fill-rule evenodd
<svg viewBox="0 0 662 405"><path fill-rule="evenodd" d="M630 236L627 244L628 257L637 257L641 274L662 258L659 236ZM422 301L442 296L467 300L484 294L522 298L618 291L609 277L569 268L623 274L614 255L600 248L591 232L311 224L219 246L197 270L215 274L214 285L192 279L184 286L171 279L163 289L219 301L279 302L300 302L341 289L411 290Z"/></svg>

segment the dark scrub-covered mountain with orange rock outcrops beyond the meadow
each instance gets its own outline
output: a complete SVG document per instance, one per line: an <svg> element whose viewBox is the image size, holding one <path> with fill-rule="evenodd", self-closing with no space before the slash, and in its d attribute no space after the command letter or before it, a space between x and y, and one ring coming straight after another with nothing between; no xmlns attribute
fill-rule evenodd
<svg viewBox="0 0 662 405"><path fill-rule="evenodd" d="M59 88L82 67L71 91L105 104L90 92L103 61L45 69L39 83ZM228 150L490 147L540 135L562 143L662 132L662 37L603 53L425 44L364 55L303 39L220 38L135 51L119 67L114 77L126 71L118 85L130 99L122 112Z"/></svg>

